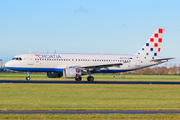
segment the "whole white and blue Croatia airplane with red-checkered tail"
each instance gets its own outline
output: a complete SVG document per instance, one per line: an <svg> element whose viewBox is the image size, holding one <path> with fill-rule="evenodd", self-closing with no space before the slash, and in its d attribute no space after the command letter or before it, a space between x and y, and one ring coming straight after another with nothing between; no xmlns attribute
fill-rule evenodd
<svg viewBox="0 0 180 120"><path fill-rule="evenodd" d="M75 78L82 80L82 75L89 75L87 81L93 82L93 73L118 73L137 70L167 62L159 57L165 29L157 29L144 46L132 55L114 54L58 54L27 53L12 58L5 64L10 70L28 72L46 72L49 78Z"/></svg>

